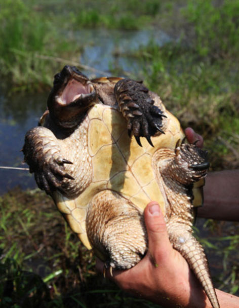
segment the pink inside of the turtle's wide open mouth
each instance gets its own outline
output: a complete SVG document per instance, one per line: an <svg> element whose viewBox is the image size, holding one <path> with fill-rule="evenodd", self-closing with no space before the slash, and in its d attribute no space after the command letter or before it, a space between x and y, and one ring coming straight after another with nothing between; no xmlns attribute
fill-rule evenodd
<svg viewBox="0 0 239 308"><path fill-rule="evenodd" d="M72 78L66 84L61 95L56 97L56 100L61 105L68 105L70 103L76 103L87 96L91 96L93 92L95 92L94 87L89 81L80 81Z"/></svg>

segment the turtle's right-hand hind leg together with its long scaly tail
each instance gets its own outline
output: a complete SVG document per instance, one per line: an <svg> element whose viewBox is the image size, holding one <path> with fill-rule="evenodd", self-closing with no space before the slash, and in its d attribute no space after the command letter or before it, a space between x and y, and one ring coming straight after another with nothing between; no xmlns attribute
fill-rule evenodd
<svg viewBox="0 0 239 308"><path fill-rule="evenodd" d="M201 282L212 306L219 308L218 299L208 269L208 261L203 247L192 236L192 203L190 185L205 176L204 152L195 145L182 145L175 151L160 149L155 153L155 162L167 198L166 224L170 242L187 260L191 270ZM202 168L187 168L189 165ZM200 170L201 169L201 170ZM175 181L176 179L176 181Z"/></svg>

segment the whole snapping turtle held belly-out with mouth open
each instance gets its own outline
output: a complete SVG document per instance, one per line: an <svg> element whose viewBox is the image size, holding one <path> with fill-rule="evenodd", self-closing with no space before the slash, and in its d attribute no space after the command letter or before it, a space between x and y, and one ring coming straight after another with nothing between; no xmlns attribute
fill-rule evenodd
<svg viewBox="0 0 239 308"><path fill-rule="evenodd" d="M192 201L202 201L197 182L209 163L205 151L183 139L178 120L141 82L90 81L65 66L39 126L26 133L23 152L38 186L111 270L130 268L145 255L142 213L157 201L173 247L216 308L206 256L192 236Z"/></svg>

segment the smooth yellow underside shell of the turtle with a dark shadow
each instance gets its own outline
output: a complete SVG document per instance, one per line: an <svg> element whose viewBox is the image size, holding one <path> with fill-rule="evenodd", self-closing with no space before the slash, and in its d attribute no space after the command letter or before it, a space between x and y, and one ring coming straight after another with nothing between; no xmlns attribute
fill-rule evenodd
<svg viewBox="0 0 239 308"><path fill-rule="evenodd" d="M169 111L165 110L165 114L165 134L152 137L154 147L142 138L140 147L128 136L126 120L117 107L96 104L88 112L85 147L91 161L92 181L76 198L67 198L59 191L53 193L58 209L87 248L91 245L86 233L86 210L100 191L117 192L140 212L155 200L165 214L165 193L157 184L152 157L158 148L174 149L178 140L184 138L179 121Z"/></svg>

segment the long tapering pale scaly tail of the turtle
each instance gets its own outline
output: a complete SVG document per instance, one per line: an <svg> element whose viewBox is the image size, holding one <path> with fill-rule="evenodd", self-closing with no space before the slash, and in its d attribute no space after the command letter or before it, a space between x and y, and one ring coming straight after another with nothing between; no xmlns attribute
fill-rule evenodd
<svg viewBox="0 0 239 308"><path fill-rule="evenodd" d="M202 284L213 308L220 308L202 245L192 236L186 226L178 222L167 225L170 242L188 262L192 272Z"/></svg>

